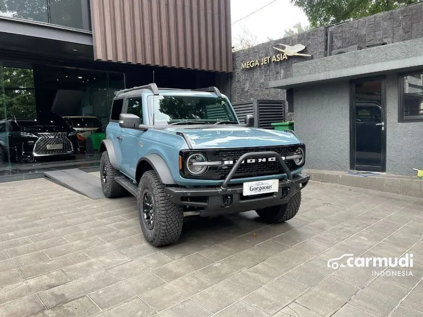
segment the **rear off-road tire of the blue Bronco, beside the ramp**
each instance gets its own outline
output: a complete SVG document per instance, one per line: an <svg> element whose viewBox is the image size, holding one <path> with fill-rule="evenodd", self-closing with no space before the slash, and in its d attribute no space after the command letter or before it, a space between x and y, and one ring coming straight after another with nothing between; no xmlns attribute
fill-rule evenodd
<svg viewBox="0 0 423 317"><path fill-rule="evenodd" d="M104 180L103 172L107 174L107 180ZM100 159L100 181L104 196L108 198L122 197L124 188L116 181L116 177L121 173L110 164L109 153L104 151Z"/></svg>

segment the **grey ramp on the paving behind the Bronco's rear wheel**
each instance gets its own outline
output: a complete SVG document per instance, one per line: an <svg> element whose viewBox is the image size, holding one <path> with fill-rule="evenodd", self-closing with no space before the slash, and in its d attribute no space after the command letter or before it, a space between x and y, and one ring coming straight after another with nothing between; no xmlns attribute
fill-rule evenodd
<svg viewBox="0 0 423 317"><path fill-rule="evenodd" d="M44 172L44 177L91 199L105 198L100 178L78 169Z"/></svg>

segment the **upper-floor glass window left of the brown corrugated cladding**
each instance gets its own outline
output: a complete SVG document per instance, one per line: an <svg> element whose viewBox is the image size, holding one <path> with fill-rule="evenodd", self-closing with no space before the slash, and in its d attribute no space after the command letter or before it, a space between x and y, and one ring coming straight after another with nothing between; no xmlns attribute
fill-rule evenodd
<svg viewBox="0 0 423 317"><path fill-rule="evenodd" d="M0 0L0 16L91 30L89 0Z"/></svg>

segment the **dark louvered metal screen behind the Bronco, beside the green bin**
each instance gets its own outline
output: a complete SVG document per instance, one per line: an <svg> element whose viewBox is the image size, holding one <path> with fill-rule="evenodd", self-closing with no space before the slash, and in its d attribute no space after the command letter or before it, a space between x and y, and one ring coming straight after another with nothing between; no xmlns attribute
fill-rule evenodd
<svg viewBox="0 0 423 317"><path fill-rule="evenodd" d="M235 113L243 123L245 115L254 115L254 127L273 129L272 122L285 119L285 100L250 100L232 104Z"/></svg>

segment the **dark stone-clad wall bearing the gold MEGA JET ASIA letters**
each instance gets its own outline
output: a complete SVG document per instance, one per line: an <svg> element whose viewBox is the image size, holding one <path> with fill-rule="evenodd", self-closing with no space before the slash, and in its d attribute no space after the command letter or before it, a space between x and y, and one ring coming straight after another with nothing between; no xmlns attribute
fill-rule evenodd
<svg viewBox="0 0 423 317"><path fill-rule="evenodd" d="M354 46L355 50L358 47L366 49L372 44L382 42L390 44L421 38L423 37L423 2L335 26L313 29L234 52L232 77L229 80L230 83L226 82L227 87L222 89L229 93L233 102L254 99L286 100L286 91L269 88L269 81L292 77L292 65L295 63L327 57L328 30L332 32L333 54L354 50ZM277 53L273 47L278 47L279 43L289 45L301 43L306 46L301 53L310 54L312 57L288 57L280 62L241 69L244 61L256 58L260 60L262 57ZM221 82L221 84L224 83Z"/></svg>

